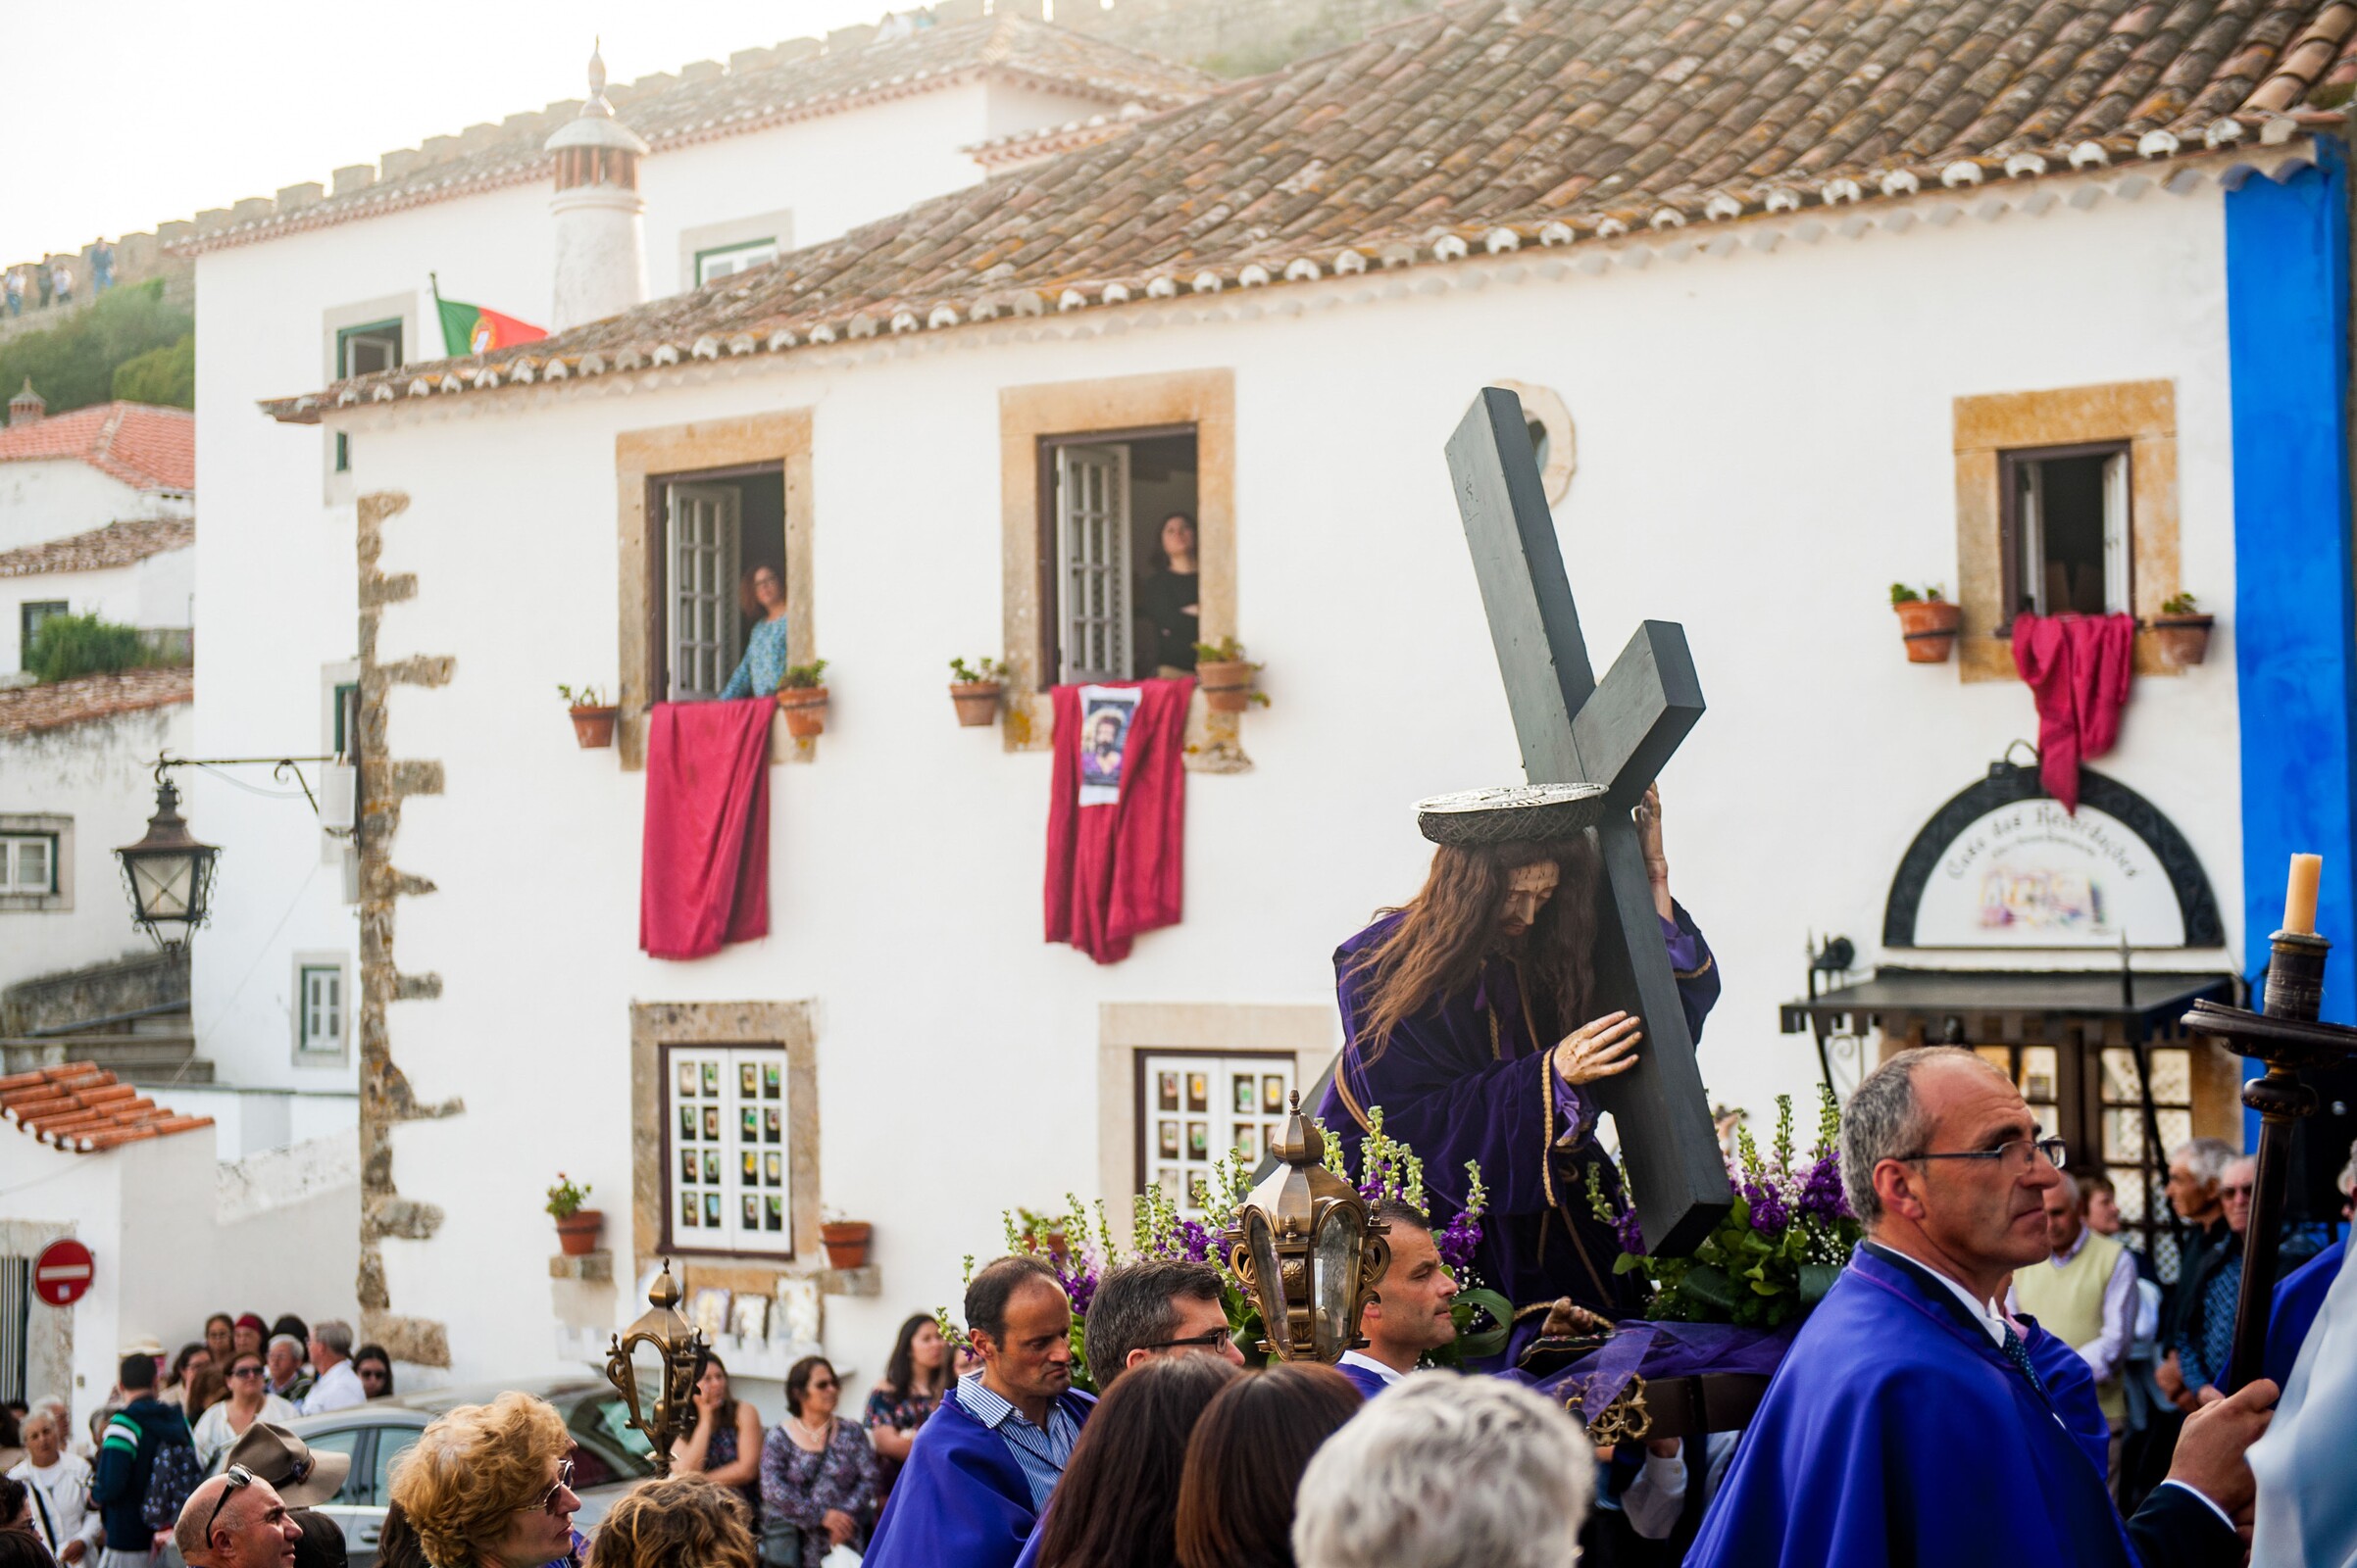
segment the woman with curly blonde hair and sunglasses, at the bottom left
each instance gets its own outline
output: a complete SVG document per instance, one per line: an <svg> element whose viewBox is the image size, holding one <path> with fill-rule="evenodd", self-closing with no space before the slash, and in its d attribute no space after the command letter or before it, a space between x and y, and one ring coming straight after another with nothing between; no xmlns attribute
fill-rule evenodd
<svg viewBox="0 0 2357 1568"><path fill-rule="evenodd" d="M544 1398L457 1406L394 1464L394 1502L434 1568L580 1563L570 1450Z"/></svg>

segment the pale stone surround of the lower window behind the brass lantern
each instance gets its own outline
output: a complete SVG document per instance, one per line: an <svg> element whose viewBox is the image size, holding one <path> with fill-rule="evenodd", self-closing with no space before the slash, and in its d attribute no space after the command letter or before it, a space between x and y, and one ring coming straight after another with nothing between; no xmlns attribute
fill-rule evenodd
<svg viewBox="0 0 2357 1568"><path fill-rule="evenodd" d="M1098 1003L1096 1187L1115 1236L1136 1217L1138 1062L1150 1050L1289 1055L1306 1097L1341 1050L1341 1019L1329 1003Z"/></svg>

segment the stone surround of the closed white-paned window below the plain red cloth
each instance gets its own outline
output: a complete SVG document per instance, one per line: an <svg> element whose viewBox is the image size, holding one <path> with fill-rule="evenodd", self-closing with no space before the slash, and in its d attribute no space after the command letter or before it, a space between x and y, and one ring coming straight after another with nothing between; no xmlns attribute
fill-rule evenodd
<svg viewBox="0 0 2357 1568"><path fill-rule="evenodd" d="M662 1250L669 1095L665 1095L665 1045L783 1045L790 1180L794 1191L787 1255ZM629 1005L629 1234L634 1278L662 1257L676 1267L679 1288L707 1285L771 1295L778 1274L816 1274L825 1264L818 1245L818 1038L813 1005L790 1003L632 1003Z"/></svg>

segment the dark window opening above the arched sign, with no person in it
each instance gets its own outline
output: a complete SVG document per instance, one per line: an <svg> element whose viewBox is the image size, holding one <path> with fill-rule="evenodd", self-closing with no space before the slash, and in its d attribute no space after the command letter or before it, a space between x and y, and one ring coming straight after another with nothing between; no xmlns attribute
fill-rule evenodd
<svg viewBox="0 0 2357 1568"><path fill-rule="evenodd" d="M2003 509L2015 614L2131 610L2128 443L2006 452Z"/></svg>

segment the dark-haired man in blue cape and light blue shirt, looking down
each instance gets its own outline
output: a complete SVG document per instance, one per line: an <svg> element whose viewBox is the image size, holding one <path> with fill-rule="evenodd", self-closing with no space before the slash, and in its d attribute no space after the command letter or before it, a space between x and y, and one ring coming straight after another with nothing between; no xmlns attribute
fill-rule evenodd
<svg viewBox="0 0 2357 1568"><path fill-rule="evenodd" d="M1089 1420L1072 1387L1072 1302L1039 1257L999 1257L966 1285L983 1370L917 1429L867 1568L1011 1568Z"/></svg>

